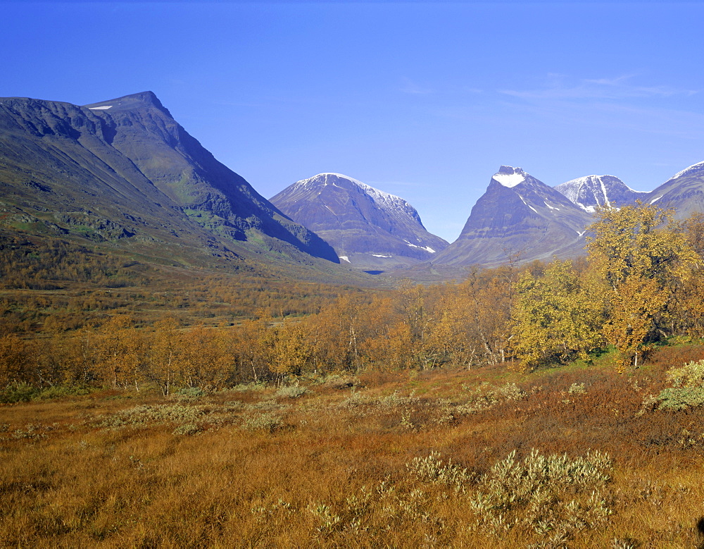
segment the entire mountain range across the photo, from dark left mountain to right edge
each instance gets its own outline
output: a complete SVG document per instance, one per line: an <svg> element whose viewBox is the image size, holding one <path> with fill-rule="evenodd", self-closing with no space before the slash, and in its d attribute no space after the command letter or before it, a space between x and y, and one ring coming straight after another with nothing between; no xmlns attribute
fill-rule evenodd
<svg viewBox="0 0 704 549"><path fill-rule="evenodd" d="M456 276L474 264L583 254L596 208L636 199L674 208L678 218L704 212L704 162L651 192L612 175L553 188L501 166L448 245L406 200L346 175L320 173L265 199L152 92L85 106L0 98L0 230L177 264L263 260L320 273Z"/></svg>

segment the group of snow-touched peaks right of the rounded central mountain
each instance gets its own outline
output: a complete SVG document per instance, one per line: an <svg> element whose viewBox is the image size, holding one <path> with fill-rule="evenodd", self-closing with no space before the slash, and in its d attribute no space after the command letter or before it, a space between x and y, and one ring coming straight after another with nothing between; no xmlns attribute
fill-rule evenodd
<svg viewBox="0 0 704 549"><path fill-rule="evenodd" d="M672 208L676 218L704 212L704 162L677 173L652 192L638 192L613 175L588 175L556 187L501 166L474 204L455 242L436 266L496 266L511 259L566 259L584 254L586 228L597 206L645 204Z"/></svg>

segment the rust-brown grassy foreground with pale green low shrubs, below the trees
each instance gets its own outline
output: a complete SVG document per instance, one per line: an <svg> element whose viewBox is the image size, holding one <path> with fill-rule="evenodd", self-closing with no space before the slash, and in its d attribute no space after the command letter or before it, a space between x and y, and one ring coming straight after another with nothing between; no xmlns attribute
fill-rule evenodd
<svg viewBox="0 0 704 549"><path fill-rule="evenodd" d="M5 547L696 547L704 412L572 365L0 406Z"/></svg>

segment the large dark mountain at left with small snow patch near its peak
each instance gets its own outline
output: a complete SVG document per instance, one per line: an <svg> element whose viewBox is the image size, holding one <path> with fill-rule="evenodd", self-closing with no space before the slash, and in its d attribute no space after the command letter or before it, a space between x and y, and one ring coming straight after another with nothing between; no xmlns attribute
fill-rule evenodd
<svg viewBox="0 0 704 549"><path fill-rule="evenodd" d="M251 250L339 261L217 161L152 92L86 106L0 98L0 211L8 229L166 258Z"/></svg>

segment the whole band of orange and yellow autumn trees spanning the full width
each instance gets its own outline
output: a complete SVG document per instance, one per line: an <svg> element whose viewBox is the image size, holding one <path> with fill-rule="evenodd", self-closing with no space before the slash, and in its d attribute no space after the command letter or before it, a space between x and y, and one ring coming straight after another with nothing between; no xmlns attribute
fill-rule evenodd
<svg viewBox="0 0 704 549"><path fill-rule="evenodd" d="M168 394L331 371L508 361L533 369L609 346L625 369L674 335L704 337L703 216L675 223L671 212L638 204L603 209L590 230L586 258L342 292L298 319L265 308L234 326L194 328L175 316L144 324L115 315L44 338L6 333L0 386L149 382Z"/></svg>

